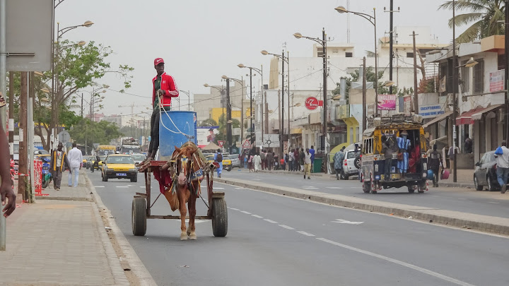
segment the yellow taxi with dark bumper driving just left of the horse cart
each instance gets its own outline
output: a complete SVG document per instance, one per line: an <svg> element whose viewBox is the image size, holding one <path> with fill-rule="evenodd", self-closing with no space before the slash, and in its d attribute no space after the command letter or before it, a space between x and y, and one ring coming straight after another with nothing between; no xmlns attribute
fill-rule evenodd
<svg viewBox="0 0 509 286"><path fill-rule="evenodd" d="M130 155L112 154L103 160L101 176L103 181L108 179L130 179L133 182L138 181L138 168L134 165L134 160Z"/></svg>

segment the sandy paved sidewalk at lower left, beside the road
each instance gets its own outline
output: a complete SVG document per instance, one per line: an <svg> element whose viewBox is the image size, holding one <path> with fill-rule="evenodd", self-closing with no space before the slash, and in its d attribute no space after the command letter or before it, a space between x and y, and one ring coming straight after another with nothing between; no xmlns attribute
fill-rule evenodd
<svg viewBox="0 0 509 286"><path fill-rule="evenodd" d="M0 285L129 285L89 187L83 170L76 188L64 174L60 191L16 209Z"/></svg>

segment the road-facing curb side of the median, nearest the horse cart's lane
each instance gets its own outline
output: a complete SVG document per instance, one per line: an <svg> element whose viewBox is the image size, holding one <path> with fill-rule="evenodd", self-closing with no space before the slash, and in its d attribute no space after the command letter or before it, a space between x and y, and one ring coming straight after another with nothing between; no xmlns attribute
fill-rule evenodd
<svg viewBox="0 0 509 286"><path fill-rule="evenodd" d="M240 186L242 188L254 189L257 191L265 191L268 193L277 193L283 196L289 196L292 198L301 198L305 200L315 201L317 203L327 203L329 205L337 205L344 208L354 208L359 210L368 210L375 213L385 213L390 215L396 215L399 217L409 218L410 216L414 220L423 220L431 223L438 223L440 225L447 225L452 227L460 227L463 229L478 230L481 232L490 232L493 234L509 235L509 225L496 225L488 222L481 222L476 220L465 220L458 216L453 218L445 215L433 214L433 210L430 212L408 210L401 207L390 207L385 205L376 205L374 203L357 203L354 201L341 200L337 198L327 198L324 196L317 196L312 194L298 193L296 191L290 191L288 189L276 189L268 186L257 186L254 184L246 184L238 181L229 181L228 179L215 178L215 181L223 184L230 184L233 186Z"/></svg>

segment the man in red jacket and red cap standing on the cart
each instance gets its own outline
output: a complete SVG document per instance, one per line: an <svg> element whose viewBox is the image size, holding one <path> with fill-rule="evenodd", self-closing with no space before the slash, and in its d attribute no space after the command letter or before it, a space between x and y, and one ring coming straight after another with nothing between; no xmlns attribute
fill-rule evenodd
<svg viewBox="0 0 509 286"><path fill-rule="evenodd" d="M163 59L154 59L157 75L152 79L151 141L148 145L148 157L144 162L153 160L159 148L160 113L170 111L172 97L179 96L175 80L165 73L164 67Z"/></svg>

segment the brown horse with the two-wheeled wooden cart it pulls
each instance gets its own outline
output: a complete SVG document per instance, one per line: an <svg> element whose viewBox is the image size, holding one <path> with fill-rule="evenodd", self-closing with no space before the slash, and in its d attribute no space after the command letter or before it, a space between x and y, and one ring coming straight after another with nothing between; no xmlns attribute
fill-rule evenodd
<svg viewBox="0 0 509 286"><path fill-rule="evenodd" d="M185 153L185 146L192 145L196 148L193 152ZM149 161L140 167L139 172L144 173L145 193L136 193L132 201L131 226L136 236L146 234L146 221L148 219L178 220L182 222L180 235L181 240L197 239L194 232L194 220L211 220L214 237L225 237L228 232L228 210L226 208L225 193L213 191L213 172L217 163L209 163L200 160L201 152L191 142L175 147L175 152L168 161ZM153 200L151 193L152 178L159 183L159 194ZM201 181L206 182L208 202L201 197ZM182 186L180 186L182 185ZM170 203L173 211L180 210L180 215L153 215L151 208L163 194ZM208 208L206 215L196 215L197 198L205 203ZM183 202L182 202L183 201ZM185 203L188 203L187 210ZM183 210L182 210L183 208ZM189 227L185 227L185 220L189 220Z"/></svg>

